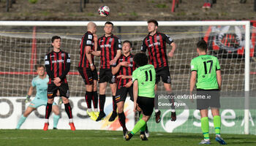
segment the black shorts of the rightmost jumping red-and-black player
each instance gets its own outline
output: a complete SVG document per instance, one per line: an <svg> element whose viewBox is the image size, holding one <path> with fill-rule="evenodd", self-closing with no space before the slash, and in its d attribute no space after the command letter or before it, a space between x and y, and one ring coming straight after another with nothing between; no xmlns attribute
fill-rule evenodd
<svg viewBox="0 0 256 146"><path fill-rule="evenodd" d="M156 71L156 84L160 81L160 77L162 77L162 82L170 84L170 72L167 66Z"/></svg>

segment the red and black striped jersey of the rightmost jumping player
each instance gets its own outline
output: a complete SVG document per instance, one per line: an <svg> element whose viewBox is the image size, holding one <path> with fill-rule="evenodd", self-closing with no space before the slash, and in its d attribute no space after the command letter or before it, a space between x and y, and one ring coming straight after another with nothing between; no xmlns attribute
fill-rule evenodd
<svg viewBox="0 0 256 146"><path fill-rule="evenodd" d="M154 65L155 69L168 66L166 42L171 44L173 39L167 36L167 34L160 32L157 32L153 36L148 34L148 36L143 39L140 51L146 52L146 49L148 49L149 64Z"/></svg>

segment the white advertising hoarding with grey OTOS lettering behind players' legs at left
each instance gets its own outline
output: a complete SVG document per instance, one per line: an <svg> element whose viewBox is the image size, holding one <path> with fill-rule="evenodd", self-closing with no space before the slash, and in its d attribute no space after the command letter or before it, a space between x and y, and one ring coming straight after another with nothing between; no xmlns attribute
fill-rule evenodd
<svg viewBox="0 0 256 146"><path fill-rule="evenodd" d="M56 103L59 98L55 98ZM70 104L72 107L72 115L75 123L75 128L86 129L86 130L122 130L118 118L114 122L108 122L110 115L112 113L112 98L106 98L105 102L105 113L106 118L96 122L91 120L89 115L87 115L86 101L83 97L70 97ZM0 128L15 128L17 126L18 120L22 113L26 110L25 98L23 97L1 97L0 99ZM61 119L59 120L57 128L59 129L70 129L68 124L67 113L65 112L64 104L59 107L61 112ZM132 101L127 98L127 102L124 104L124 113L126 115L127 128L132 129L135 125L135 118L133 110ZM25 123L20 127L21 129L42 129L44 126L45 117L45 106L39 107L26 119ZM53 128L53 113L49 118L49 128Z"/></svg>

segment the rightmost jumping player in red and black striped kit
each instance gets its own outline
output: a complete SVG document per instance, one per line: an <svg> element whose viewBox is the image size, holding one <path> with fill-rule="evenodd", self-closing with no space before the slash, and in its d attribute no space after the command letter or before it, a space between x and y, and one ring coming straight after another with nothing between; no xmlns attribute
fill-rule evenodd
<svg viewBox="0 0 256 146"><path fill-rule="evenodd" d="M154 65L154 69L157 72L157 79L155 85L155 113L156 113L156 123L160 122L161 111L158 110L158 96L157 96L157 84L162 77L162 82L164 82L165 91L169 95L173 95L172 88L170 85L170 72L168 68L168 58L166 51L166 43L172 46L172 50L168 55L173 57L173 53L176 50L176 44L173 39L170 39L167 34L162 34L157 31L158 23L157 20L148 20L148 36L143 39L141 52L145 53L148 50L149 64ZM176 120L176 112L174 107L174 99L169 99L172 104L171 120Z"/></svg>

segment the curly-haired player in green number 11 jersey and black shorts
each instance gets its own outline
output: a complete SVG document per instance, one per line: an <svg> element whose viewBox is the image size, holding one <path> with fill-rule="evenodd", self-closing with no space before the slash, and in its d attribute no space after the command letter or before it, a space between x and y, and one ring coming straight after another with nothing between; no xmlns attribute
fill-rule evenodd
<svg viewBox="0 0 256 146"><path fill-rule="evenodd" d="M127 134L125 139L129 140L140 129L146 128L146 122L151 117L154 109L154 85L156 82L156 71L154 66L148 64L148 57L145 53L137 53L133 58L138 68L132 72L133 81L133 97L134 112L138 107L142 110L143 118L141 118L131 133ZM141 134L142 140L148 140L145 134Z"/></svg>

